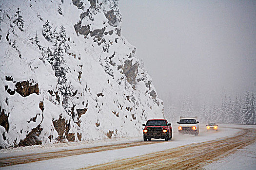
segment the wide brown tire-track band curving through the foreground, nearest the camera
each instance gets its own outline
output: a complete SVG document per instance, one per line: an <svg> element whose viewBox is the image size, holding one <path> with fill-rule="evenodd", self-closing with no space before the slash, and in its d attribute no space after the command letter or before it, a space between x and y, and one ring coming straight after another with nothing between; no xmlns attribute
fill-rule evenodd
<svg viewBox="0 0 256 170"><path fill-rule="evenodd" d="M79 170L197 170L204 165L256 141L255 129L242 129L236 136L193 143L165 151L126 158Z"/></svg>

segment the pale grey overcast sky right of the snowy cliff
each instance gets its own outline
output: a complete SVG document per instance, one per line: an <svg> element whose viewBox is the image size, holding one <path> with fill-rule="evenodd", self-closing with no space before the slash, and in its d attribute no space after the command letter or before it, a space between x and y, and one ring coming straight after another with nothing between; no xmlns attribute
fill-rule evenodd
<svg viewBox="0 0 256 170"><path fill-rule="evenodd" d="M119 7L122 34L160 98L256 90L255 0L120 0Z"/></svg>

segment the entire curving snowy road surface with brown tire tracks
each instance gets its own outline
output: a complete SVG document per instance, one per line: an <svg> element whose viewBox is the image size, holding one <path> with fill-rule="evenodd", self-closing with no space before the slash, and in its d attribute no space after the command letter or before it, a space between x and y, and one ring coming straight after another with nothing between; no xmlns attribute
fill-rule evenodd
<svg viewBox="0 0 256 170"><path fill-rule="evenodd" d="M238 170L256 168L254 163L256 152L250 152L249 159L245 155L249 150L255 149L256 126L219 125L217 132L206 132L204 124L199 126L198 136L178 136L177 125L173 125L173 139L168 142L164 140L143 142L140 136L3 149L0 150L0 169L219 170L235 167ZM237 155L244 155L244 158L239 159ZM238 158L235 162L229 163L236 157Z"/></svg>

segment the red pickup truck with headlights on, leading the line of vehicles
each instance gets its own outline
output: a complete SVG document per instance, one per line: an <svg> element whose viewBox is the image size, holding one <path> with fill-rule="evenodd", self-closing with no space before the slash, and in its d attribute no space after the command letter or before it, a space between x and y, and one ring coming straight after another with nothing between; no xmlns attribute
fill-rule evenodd
<svg viewBox="0 0 256 170"><path fill-rule="evenodd" d="M162 138L165 141L172 139L172 124L166 119L150 119L146 124L142 124L144 141L151 141L151 138Z"/></svg>

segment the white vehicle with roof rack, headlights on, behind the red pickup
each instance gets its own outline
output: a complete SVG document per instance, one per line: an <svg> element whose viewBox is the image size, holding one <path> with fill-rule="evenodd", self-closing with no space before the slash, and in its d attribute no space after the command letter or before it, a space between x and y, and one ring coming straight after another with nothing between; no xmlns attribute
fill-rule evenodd
<svg viewBox="0 0 256 170"><path fill-rule="evenodd" d="M179 124L178 134L192 134L197 136L199 133L199 121L197 121L197 116L194 118L179 116L177 124Z"/></svg>

